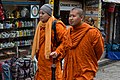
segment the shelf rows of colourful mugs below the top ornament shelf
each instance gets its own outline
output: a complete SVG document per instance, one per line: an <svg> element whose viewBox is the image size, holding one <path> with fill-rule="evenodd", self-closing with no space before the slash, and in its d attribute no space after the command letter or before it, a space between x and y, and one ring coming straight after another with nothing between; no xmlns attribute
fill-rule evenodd
<svg viewBox="0 0 120 80"><path fill-rule="evenodd" d="M1 23L3 25L0 28L1 54L29 53L35 30L34 20L22 18L12 20L5 24Z"/></svg>

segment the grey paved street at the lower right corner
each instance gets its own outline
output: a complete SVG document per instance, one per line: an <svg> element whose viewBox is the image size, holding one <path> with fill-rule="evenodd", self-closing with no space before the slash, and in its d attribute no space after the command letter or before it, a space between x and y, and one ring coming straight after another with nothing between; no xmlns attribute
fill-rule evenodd
<svg viewBox="0 0 120 80"><path fill-rule="evenodd" d="M120 80L120 60L110 60L99 64L95 80Z"/></svg>

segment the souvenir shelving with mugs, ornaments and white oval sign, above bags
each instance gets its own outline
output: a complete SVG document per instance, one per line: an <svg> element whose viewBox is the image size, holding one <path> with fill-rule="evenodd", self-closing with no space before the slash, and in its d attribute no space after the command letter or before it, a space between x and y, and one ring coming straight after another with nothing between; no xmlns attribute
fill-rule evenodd
<svg viewBox="0 0 120 80"><path fill-rule="evenodd" d="M40 1L1 1L4 20L0 20L0 48L3 53L28 52L39 18ZM16 51L18 48L18 51ZM20 56L20 54L19 54Z"/></svg>

